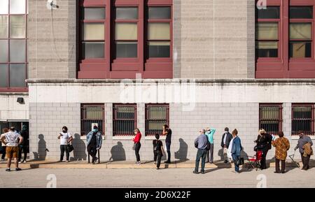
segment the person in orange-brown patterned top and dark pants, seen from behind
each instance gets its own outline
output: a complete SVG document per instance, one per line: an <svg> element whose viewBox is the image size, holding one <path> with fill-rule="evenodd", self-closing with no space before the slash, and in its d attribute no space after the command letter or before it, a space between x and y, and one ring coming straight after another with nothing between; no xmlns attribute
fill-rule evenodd
<svg viewBox="0 0 315 202"><path fill-rule="evenodd" d="M286 172L286 157L288 155L288 150L290 149L290 142L287 138L283 137L283 132L279 132L279 138L274 140L272 137L272 146L276 147L276 171L274 173L285 173ZM280 161L281 161L281 171L280 171Z"/></svg>

